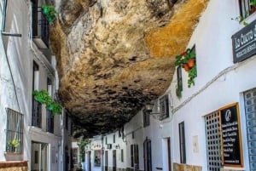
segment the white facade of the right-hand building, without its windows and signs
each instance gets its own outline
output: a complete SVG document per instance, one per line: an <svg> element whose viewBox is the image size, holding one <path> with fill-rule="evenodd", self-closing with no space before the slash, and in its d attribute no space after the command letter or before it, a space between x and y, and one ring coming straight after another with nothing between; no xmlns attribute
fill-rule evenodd
<svg viewBox="0 0 256 171"><path fill-rule="evenodd" d="M214 111L219 111L226 105L238 103L237 116L240 117L238 125L241 129L239 140L241 141L242 163L240 166L224 164L217 170L220 168L250 170L249 161L251 160L251 165L253 165L253 158L249 158L248 151L247 122L250 120L246 120L244 92L256 88L256 53L247 60L233 62L231 37L245 27L236 20L231 20L231 18L240 15L239 8L239 1L209 1L207 9L201 14L200 21L187 46L187 48L192 48L195 45L197 69L195 86L188 88L188 73L182 70L183 91L182 98L178 99L176 95L176 72L166 91L169 96L169 117L160 121L157 115L149 115L150 124L143 127L143 111L140 111L131 119L130 123L125 124L123 131L125 138L120 141L120 144L124 145L123 148L126 149L125 162L117 162L117 168L135 168L135 166L131 166L131 145L138 145L139 170L150 170L145 168L143 158L143 151L145 151L143 145L148 140L148 145L151 143L151 169L167 171L172 168L172 170L178 170L176 166L181 163L179 123L183 123L185 137L183 167L198 166L203 171L209 170L207 149L210 148L210 145L207 145L206 116ZM248 24L253 20L256 20L255 13L246 19ZM255 34L255 30L253 34ZM155 100L154 112L160 112L156 109L157 104L158 101ZM253 121L255 111L252 116L254 117L249 119ZM104 137L106 136L112 137L113 134ZM113 142L109 141L113 145ZM106 149L104 140L103 143L104 149ZM249 143L249 145L252 144ZM221 153L220 146L218 148L218 152ZM108 151L108 167L112 169L111 150ZM168 169L168 160L171 161L170 169ZM216 161L221 162L221 157L218 156L214 160L214 163Z"/></svg>

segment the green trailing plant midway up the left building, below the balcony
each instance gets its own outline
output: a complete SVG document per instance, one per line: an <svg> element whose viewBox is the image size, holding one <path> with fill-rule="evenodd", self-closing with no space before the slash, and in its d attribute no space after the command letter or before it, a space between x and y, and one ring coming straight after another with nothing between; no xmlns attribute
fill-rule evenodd
<svg viewBox="0 0 256 171"><path fill-rule="evenodd" d="M34 96L34 99L37 100L39 103L46 105L49 111L52 111L53 115L61 114L61 104L52 100L49 93L46 90L35 90L32 94Z"/></svg>

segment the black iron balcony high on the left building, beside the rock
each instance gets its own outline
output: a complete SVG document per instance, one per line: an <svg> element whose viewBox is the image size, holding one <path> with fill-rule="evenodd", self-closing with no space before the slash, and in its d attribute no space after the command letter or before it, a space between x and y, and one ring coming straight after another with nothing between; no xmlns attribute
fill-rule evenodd
<svg viewBox="0 0 256 171"><path fill-rule="evenodd" d="M32 8L32 37L40 38L44 44L38 43L38 48L49 48L49 22L40 7Z"/></svg>

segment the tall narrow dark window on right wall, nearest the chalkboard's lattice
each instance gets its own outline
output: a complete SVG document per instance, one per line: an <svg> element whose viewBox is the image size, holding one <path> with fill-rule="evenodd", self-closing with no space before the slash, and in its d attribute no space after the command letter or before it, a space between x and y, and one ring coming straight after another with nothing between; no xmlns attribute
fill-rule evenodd
<svg viewBox="0 0 256 171"><path fill-rule="evenodd" d="M185 145L185 128L184 122L178 124L179 132L179 153L180 153L180 162L186 163L186 145Z"/></svg>

